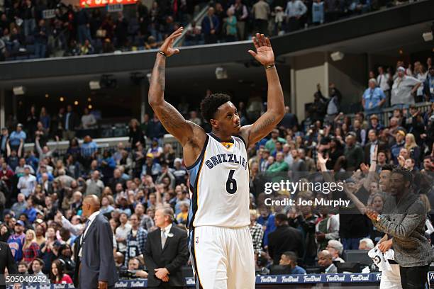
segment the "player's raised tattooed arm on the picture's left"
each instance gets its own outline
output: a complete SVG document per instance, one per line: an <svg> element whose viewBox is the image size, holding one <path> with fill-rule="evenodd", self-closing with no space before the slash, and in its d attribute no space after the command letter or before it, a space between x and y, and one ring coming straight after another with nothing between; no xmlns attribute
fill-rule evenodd
<svg viewBox="0 0 434 289"><path fill-rule="evenodd" d="M179 49L173 48L173 42L182 34L182 30L183 28L179 28L172 33L160 47L160 52L157 53L150 79L149 104L165 129L184 147L194 137L196 130L202 130L202 128L185 120L176 108L165 101L164 97L166 59L179 53ZM203 134L205 135L204 131Z"/></svg>

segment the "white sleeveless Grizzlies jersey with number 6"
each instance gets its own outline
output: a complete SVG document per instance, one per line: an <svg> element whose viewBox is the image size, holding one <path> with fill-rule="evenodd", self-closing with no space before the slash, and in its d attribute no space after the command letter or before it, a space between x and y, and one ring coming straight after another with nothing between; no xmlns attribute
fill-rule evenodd
<svg viewBox="0 0 434 289"><path fill-rule="evenodd" d="M249 167L240 137L221 142L207 134L204 149L189 171L188 227L245 227L250 224Z"/></svg>

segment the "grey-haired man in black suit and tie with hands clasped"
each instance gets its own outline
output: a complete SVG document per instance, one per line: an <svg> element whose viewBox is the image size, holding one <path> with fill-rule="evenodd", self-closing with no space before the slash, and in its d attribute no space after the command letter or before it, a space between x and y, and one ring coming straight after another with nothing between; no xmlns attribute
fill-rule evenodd
<svg viewBox="0 0 434 289"><path fill-rule="evenodd" d="M148 234L145 264L149 271L148 288L184 288L187 284L181 267L189 259L187 232L172 224L172 208L155 212L156 229Z"/></svg>

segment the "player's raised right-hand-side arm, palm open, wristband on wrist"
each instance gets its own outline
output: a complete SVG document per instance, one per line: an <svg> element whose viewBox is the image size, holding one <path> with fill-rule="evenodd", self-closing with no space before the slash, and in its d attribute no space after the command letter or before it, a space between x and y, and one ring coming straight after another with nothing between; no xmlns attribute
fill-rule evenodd
<svg viewBox="0 0 434 289"><path fill-rule="evenodd" d="M284 96L280 85L277 69L274 67L274 52L269 38L263 34L256 34L252 38L256 52L249 50L250 55L265 67L267 74L267 111L252 125L245 125L241 128L240 134L247 141L248 145L262 140L273 128L280 123L284 116Z"/></svg>

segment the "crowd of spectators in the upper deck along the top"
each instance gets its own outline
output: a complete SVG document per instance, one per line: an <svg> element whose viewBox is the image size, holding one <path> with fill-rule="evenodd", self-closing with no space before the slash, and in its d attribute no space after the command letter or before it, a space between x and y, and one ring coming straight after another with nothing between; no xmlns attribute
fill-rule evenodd
<svg viewBox="0 0 434 289"><path fill-rule="evenodd" d="M216 0L196 23L194 12L206 0L148 6L138 1L116 12L66 6L60 0L5 0L0 3L0 61L154 49L188 24L184 45L245 40L256 32L281 35L405 2Z"/></svg>

